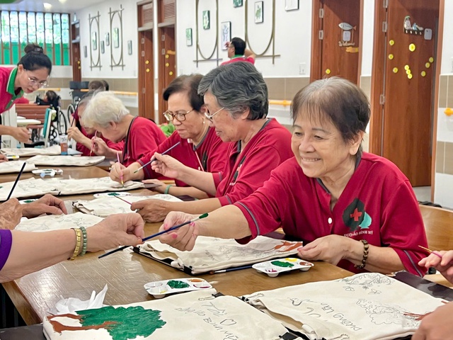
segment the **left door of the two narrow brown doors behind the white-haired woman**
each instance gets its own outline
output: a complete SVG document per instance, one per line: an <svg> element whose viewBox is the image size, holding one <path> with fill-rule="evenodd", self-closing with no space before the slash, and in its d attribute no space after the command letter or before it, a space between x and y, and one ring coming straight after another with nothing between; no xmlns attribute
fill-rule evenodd
<svg viewBox="0 0 453 340"><path fill-rule="evenodd" d="M153 32L139 32L139 115L154 120Z"/></svg>

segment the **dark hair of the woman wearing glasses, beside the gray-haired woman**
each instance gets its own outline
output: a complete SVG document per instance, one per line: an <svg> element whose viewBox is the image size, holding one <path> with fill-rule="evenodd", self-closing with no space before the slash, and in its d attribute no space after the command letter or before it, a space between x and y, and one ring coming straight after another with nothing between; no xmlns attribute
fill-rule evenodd
<svg viewBox="0 0 453 340"><path fill-rule="evenodd" d="M198 94L198 85L203 78L201 74L190 74L182 75L178 78L173 79L168 87L164 90L162 97L164 101L168 101L168 98L172 94L178 94L180 92L187 92L189 97L190 106L196 111L200 111L201 107L205 103L203 96Z"/></svg>

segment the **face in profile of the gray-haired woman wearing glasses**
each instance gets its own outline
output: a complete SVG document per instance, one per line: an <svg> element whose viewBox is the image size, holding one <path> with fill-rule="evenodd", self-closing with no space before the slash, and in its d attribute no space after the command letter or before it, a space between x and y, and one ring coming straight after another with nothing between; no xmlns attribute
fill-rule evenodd
<svg viewBox="0 0 453 340"><path fill-rule="evenodd" d="M215 129L215 133L223 142L237 142L245 137L241 132L245 128L243 120L248 113L244 113L245 118L241 116L234 119L226 109L219 106L217 98L210 92L205 94L205 104L209 111L207 114L212 116L210 126Z"/></svg>

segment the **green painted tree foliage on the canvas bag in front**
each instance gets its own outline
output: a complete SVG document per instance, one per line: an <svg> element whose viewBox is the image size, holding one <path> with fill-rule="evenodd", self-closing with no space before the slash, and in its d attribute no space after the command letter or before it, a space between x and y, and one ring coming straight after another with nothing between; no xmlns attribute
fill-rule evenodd
<svg viewBox="0 0 453 340"><path fill-rule="evenodd" d="M160 310L145 310L135 307L103 307L96 310L80 310L80 322L84 327L105 324L113 340L135 339L150 336L166 322L160 319Z"/></svg>

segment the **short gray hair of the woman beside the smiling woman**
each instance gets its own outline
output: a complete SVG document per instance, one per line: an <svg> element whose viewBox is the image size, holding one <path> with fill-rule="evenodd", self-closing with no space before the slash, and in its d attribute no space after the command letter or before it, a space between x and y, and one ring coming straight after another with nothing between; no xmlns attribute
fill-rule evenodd
<svg viewBox="0 0 453 340"><path fill-rule="evenodd" d="M219 106L229 111L233 118L250 109L249 120L268 115L268 86L263 76L250 62L234 62L212 69L203 77L198 94L210 92Z"/></svg>

